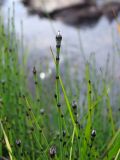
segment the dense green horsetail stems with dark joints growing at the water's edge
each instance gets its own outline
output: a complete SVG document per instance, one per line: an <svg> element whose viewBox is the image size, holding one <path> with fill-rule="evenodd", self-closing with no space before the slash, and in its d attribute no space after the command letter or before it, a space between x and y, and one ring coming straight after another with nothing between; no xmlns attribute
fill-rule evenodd
<svg viewBox="0 0 120 160"><path fill-rule="evenodd" d="M10 160L119 160L120 92L112 106L108 90L108 84L111 90L117 84L114 77L107 79L103 72L97 73L93 62L85 62L83 80L68 83L71 71L66 68L66 77L60 70L64 35L58 32L56 54L50 49L56 77L41 81L33 66L33 95L25 64L19 61L14 23L8 22L12 23L11 34L0 22L0 156ZM71 94L71 86L77 96Z"/></svg>

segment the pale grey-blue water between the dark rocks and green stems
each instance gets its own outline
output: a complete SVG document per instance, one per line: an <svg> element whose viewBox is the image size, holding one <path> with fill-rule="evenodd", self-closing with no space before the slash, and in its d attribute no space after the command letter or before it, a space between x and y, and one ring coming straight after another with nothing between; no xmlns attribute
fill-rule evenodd
<svg viewBox="0 0 120 160"><path fill-rule="evenodd" d="M83 54L89 59L94 53L98 68L106 63L108 53L114 53L115 76L120 76L118 52L114 45L120 42L120 33L117 30L117 23L102 17L93 27L71 27L59 21L41 19L37 15L30 16L20 0L15 2L15 26L17 36L21 35L21 21L23 22L24 44L28 48L29 67L33 65L41 66L42 77L51 74L54 68L50 46L55 50L55 34L58 30L63 35L61 64L67 59L71 65L71 70L81 68ZM2 6L2 13L5 23L7 23L8 8L11 8L12 16L13 0L6 0ZM120 18L118 18L120 20ZM48 69L49 68L49 69Z"/></svg>

